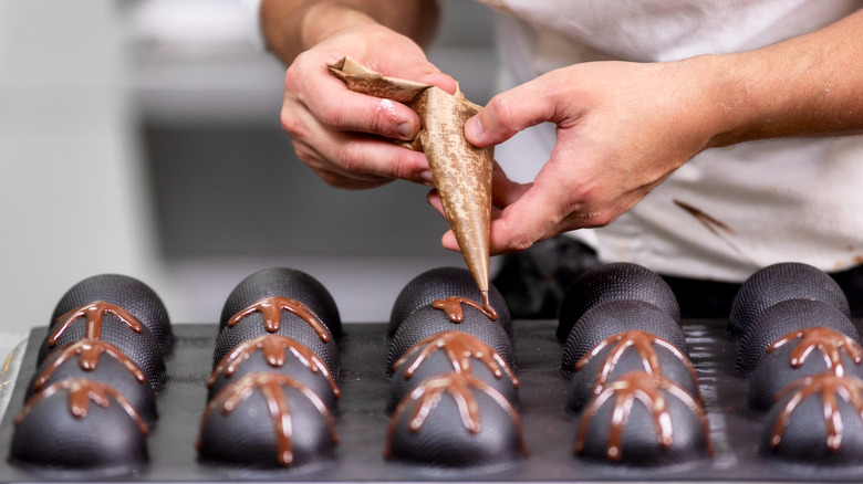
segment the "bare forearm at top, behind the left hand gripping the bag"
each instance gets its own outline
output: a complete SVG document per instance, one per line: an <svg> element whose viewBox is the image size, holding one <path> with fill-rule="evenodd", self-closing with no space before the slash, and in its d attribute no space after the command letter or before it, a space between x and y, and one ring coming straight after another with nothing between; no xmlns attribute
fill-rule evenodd
<svg viewBox="0 0 863 484"><path fill-rule="evenodd" d="M340 30L379 23L426 45L438 20L435 0L263 0L268 48L290 64L301 52Z"/></svg>

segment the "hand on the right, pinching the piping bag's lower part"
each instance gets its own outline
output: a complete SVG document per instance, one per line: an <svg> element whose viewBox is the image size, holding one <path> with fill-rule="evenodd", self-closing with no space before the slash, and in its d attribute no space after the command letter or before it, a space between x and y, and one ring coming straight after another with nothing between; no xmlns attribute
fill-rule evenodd
<svg viewBox="0 0 863 484"><path fill-rule="evenodd" d="M543 122L558 126L551 158L532 183L496 170L492 202L502 210L492 213L492 254L606 225L707 147L713 104L690 63L564 67L495 96L469 119L465 135L480 147ZM436 194L429 202L440 210ZM451 232L443 244L458 250Z"/></svg>

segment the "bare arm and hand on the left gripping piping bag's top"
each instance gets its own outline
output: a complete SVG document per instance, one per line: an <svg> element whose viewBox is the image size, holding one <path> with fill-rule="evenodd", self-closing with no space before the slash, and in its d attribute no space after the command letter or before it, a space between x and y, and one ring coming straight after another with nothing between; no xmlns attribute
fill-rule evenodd
<svg viewBox="0 0 863 484"><path fill-rule="evenodd" d="M434 0L263 0L267 44L289 64L282 127L299 158L324 181L352 189L396 178L430 185L422 152L382 138L413 139L417 115L399 103L350 92L325 64L347 55L386 75L453 93L455 81L420 46L430 41L437 17Z"/></svg>

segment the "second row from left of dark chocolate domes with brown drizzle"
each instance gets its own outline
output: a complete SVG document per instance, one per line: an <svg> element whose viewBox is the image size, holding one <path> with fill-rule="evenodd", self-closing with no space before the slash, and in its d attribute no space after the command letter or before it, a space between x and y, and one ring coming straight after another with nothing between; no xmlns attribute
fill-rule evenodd
<svg viewBox="0 0 863 484"><path fill-rule="evenodd" d="M219 322L199 456L243 469L334 459L342 323L326 288L294 269L240 282Z"/></svg>

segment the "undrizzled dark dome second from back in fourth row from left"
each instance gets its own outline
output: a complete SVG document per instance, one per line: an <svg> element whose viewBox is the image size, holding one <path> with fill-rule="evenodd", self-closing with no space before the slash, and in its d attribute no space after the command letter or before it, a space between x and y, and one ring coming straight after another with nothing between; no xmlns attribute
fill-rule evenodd
<svg viewBox="0 0 863 484"><path fill-rule="evenodd" d="M575 323L563 347L564 373L605 338L628 330L642 330L662 338L689 356L679 324L667 312L638 299L611 299L593 306Z"/></svg>

